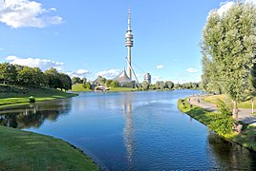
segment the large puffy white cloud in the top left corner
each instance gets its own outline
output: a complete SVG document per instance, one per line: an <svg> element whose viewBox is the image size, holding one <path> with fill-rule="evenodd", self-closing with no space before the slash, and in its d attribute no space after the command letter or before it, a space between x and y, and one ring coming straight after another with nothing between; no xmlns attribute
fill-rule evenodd
<svg viewBox="0 0 256 171"><path fill-rule="evenodd" d="M58 15L49 15L55 11L43 9L42 4L31 0L6 0L0 6L0 22L11 28L44 28L62 22Z"/></svg>

